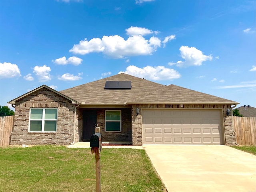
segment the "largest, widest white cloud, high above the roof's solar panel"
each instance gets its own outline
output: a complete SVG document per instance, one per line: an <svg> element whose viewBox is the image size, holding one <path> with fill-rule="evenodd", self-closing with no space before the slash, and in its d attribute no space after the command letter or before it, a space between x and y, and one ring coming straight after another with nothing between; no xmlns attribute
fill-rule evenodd
<svg viewBox="0 0 256 192"><path fill-rule="evenodd" d="M127 40L115 36L103 36L93 38L90 41L84 39L75 44L69 52L74 54L88 54L91 52L103 52L112 58L123 58L125 56L151 55L160 47L161 42L157 37L146 40L142 36L130 36Z"/></svg>

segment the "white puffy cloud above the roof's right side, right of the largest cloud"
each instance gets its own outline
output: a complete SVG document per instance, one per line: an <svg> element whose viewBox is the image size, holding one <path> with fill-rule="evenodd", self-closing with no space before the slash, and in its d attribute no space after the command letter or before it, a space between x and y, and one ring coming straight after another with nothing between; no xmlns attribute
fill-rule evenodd
<svg viewBox="0 0 256 192"><path fill-rule="evenodd" d="M207 60L212 60L212 55L204 55L202 51L196 49L195 47L181 46L180 56L184 61L178 61L176 63L169 62L169 65L176 65L178 67L188 67L188 66L200 66L202 62Z"/></svg>

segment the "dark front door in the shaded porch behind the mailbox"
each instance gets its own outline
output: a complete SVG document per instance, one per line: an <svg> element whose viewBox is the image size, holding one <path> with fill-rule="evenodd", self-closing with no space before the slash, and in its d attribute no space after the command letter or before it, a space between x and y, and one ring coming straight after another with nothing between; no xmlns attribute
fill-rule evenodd
<svg viewBox="0 0 256 192"><path fill-rule="evenodd" d="M97 111L85 110L83 112L83 140L90 140L90 137L95 133L97 123Z"/></svg>

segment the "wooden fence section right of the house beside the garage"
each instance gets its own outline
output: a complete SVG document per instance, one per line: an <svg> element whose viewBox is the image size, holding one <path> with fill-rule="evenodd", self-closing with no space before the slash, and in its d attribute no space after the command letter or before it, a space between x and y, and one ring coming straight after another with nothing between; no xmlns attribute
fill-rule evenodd
<svg viewBox="0 0 256 192"><path fill-rule="evenodd" d="M240 145L256 145L256 117L233 116L236 142Z"/></svg>

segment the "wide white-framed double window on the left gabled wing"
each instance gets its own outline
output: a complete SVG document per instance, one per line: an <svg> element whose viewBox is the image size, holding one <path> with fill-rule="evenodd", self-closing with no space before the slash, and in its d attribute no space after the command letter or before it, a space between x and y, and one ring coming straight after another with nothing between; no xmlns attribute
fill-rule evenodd
<svg viewBox="0 0 256 192"><path fill-rule="evenodd" d="M31 108L29 122L30 132L56 132L57 109Z"/></svg>

